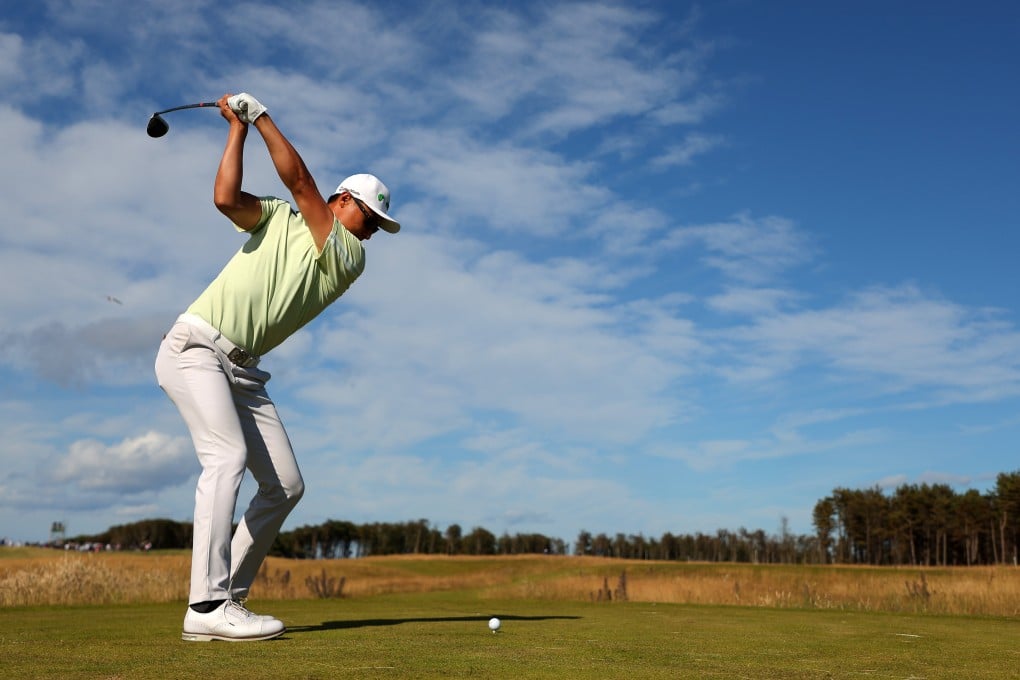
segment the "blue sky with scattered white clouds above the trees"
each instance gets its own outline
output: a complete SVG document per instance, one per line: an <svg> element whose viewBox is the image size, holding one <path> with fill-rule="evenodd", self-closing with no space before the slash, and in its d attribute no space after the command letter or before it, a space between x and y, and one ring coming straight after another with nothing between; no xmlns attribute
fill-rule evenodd
<svg viewBox="0 0 1020 680"><path fill-rule="evenodd" d="M243 237L219 116L145 123L224 92L404 224L265 359L285 529L807 533L837 486L1020 468L1013 3L21 4L0 536L190 520L152 363ZM245 185L288 198L257 136Z"/></svg>

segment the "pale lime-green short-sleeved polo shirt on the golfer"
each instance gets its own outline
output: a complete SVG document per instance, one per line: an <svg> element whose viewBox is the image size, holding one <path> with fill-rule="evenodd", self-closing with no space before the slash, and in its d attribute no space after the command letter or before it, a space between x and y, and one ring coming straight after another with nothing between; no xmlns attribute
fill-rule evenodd
<svg viewBox="0 0 1020 680"><path fill-rule="evenodd" d="M318 252L290 203L259 200L262 218L248 242L188 308L256 357L318 316L365 268L361 242L339 220Z"/></svg>

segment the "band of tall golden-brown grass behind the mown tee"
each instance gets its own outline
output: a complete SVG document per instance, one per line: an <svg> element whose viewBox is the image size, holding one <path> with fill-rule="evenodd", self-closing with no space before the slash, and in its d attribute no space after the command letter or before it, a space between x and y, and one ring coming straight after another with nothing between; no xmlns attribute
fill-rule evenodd
<svg viewBox="0 0 1020 680"><path fill-rule="evenodd" d="M23 553L23 552L22 552ZM187 553L63 554L4 559L0 606L185 601ZM622 590L621 590L622 586ZM735 605L1017 616L1012 567L865 568L638 562L574 557L269 558L259 599L472 590L486 598ZM621 596L622 595L622 596Z"/></svg>

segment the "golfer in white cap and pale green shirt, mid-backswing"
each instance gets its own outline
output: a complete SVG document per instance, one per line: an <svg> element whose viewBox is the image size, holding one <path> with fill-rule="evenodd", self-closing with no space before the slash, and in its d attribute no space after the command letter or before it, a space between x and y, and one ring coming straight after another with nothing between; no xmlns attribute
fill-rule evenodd
<svg viewBox="0 0 1020 680"><path fill-rule="evenodd" d="M280 635L284 624L252 614L244 600L304 481L260 360L361 274L362 242L377 229L396 233L400 223L387 214L390 191L370 174L348 177L324 200L251 95L224 95L217 105L230 129L213 199L248 240L163 337L156 377L184 417L202 466L182 637L265 640ZM262 136L296 207L241 191L249 124ZM245 468L258 491L232 535Z"/></svg>

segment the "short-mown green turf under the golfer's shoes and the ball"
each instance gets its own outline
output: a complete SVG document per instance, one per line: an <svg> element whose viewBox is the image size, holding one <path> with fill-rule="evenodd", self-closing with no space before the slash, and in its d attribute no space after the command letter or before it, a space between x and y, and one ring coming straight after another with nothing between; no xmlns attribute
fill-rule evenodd
<svg viewBox="0 0 1020 680"><path fill-rule="evenodd" d="M1018 678L1020 622L494 600L469 591L251 603L276 640L183 642L184 605L0 611L4 678ZM498 634L486 622L503 620Z"/></svg>

